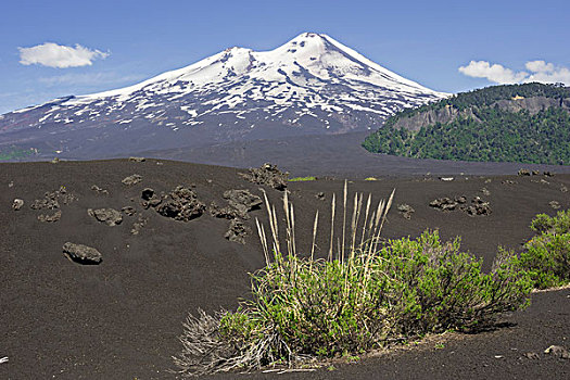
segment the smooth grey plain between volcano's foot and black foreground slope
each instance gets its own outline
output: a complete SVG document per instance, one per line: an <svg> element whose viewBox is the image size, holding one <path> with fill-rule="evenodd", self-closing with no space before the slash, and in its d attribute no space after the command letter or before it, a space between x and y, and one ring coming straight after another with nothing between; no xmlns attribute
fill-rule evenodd
<svg viewBox="0 0 570 380"><path fill-rule="evenodd" d="M519 163L479 163L440 160L415 160L373 154L360 147L369 132L320 135L251 140L208 147L142 152L144 156L180 160L231 167L259 166L266 162L284 167L295 176L411 176L431 174L501 175L517 173L520 167L570 173L570 166L528 165Z"/></svg>

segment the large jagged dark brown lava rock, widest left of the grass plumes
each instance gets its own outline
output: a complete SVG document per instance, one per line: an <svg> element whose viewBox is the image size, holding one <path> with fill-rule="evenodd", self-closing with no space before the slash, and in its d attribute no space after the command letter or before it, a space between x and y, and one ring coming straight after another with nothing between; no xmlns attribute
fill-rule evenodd
<svg viewBox="0 0 570 380"><path fill-rule="evenodd" d="M197 193L189 188L178 186L167 194L157 197L152 189L144 189L142 193L142 206L153 207L162 216L175 220L189 221L200 217L206 206L198 200ZM149 198L150 197L150 198Z"/></svg>

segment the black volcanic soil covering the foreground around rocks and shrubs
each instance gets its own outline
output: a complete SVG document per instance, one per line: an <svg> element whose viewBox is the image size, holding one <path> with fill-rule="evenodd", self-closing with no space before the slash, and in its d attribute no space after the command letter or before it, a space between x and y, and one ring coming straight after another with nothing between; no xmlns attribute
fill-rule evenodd
<svg viewBox="0 0 570 380"><path fill-rule="evenodd" d="M517 165L523 166L523 165ZM200 201L226 205L229 189L249 189L261 195L259 186L241 178L235 169L180 162L126 160L99 162L21 163L0 165L0 364L2 379L163 379L174 378L170 356L180 350L177 337L188 312L233 308L249 289L248 273L263 266L255 235L246 244L224 239L229 221L208 211L188 223L176 221L141 206L141 191L169 191L178 185L192 186ZM405 170L404 170L405 172ZM516 170L514 169L512 173ZM417 236L426 228L439 228L444 239L463 237L463 246L484 259L489 268L497 245L515 250L532 237L528 228L537 213L554 215L549 202L570 207L570 175L381 177L364 181L357 170L350 191L371 192L376 200L396 188L394 206L384 237ZM142 181L125 186L129 175ZM316 169L311 174L319 175ZM365 174L365 173L362 173ZM366 173L367 174L367 173ZM381 173L380 173L381 174ZM379 174L377 174L379 175ZM508 183L506 181L514 181ZM91 190L97 185L109 194ZM61 219L42 223L31 210L36 199L64 186L77 200L61 205ZM295 205L297 246L309 245L314 212L330 213L332 192L341 195L343 181L320 179L291 182ZM485 195L482 189L489 191ZM282 192L266 189L273 201ZM317 192L325 193L318 200ZM471 217L440 212L428 204L442 197L481 197L491 204L489 216ZM23 199L20 211L14 199ZM396 206L415 208L408 220ZM340 205L340 201L339 201ZM110 227L89 216L87 208L131 206L134 216ZM339 208L338 208L339 210ZM131 235L139 215L147 219L139 235ZM266 220L265 210L250 213ZM321 217L320 255L328 241L326 217ZM100 265L79 265L63 255L65 242L98 249ZM457 334L443 349L423 344L369 357L359 364L337 364L334 371L280 375L299 379L562 379L570 376L570 360L542 354L550 344L570 349L570 290L536 293L531 306L506 318L507 327L474 335ZM539 359L522 357L539 353ZM496 357L498 356L498 357ZM277 375L224 375L213 378L265 379Z"/></svg>

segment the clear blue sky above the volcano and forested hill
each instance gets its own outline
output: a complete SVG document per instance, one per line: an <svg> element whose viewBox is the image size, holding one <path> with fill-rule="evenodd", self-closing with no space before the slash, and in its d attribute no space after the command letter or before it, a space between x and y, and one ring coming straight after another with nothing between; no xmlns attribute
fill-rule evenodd
<svg viewBox="0 0 570 380"><path fill-rule="evenodd" d="M232 46L270 50L303 31L446 92L570 73L570 1L20 0L1 14L0 113L131 85ZM79 45L91 64L34 61L25 49L46 42Z"/></svg>

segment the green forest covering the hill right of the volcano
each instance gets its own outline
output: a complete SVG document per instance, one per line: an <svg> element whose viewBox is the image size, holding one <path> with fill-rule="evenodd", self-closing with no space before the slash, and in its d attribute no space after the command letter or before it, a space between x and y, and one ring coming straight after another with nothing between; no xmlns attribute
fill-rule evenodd
<svg viewBox="0 0 570 380"><path fill-rule="evenodd" d="M525 110L512 113L493 105L497 100L517 96L562 99L570 98L570 89L529 84L496 86L459 93L393 116L382 128L368 136L363 147L375 153L417 159L569 165L568 111L549 107L531 115ZM418 131L394 127L398 117L445 105L461 110L471 107L476 117L458 117L446 124L435 123Z"/></svg>

